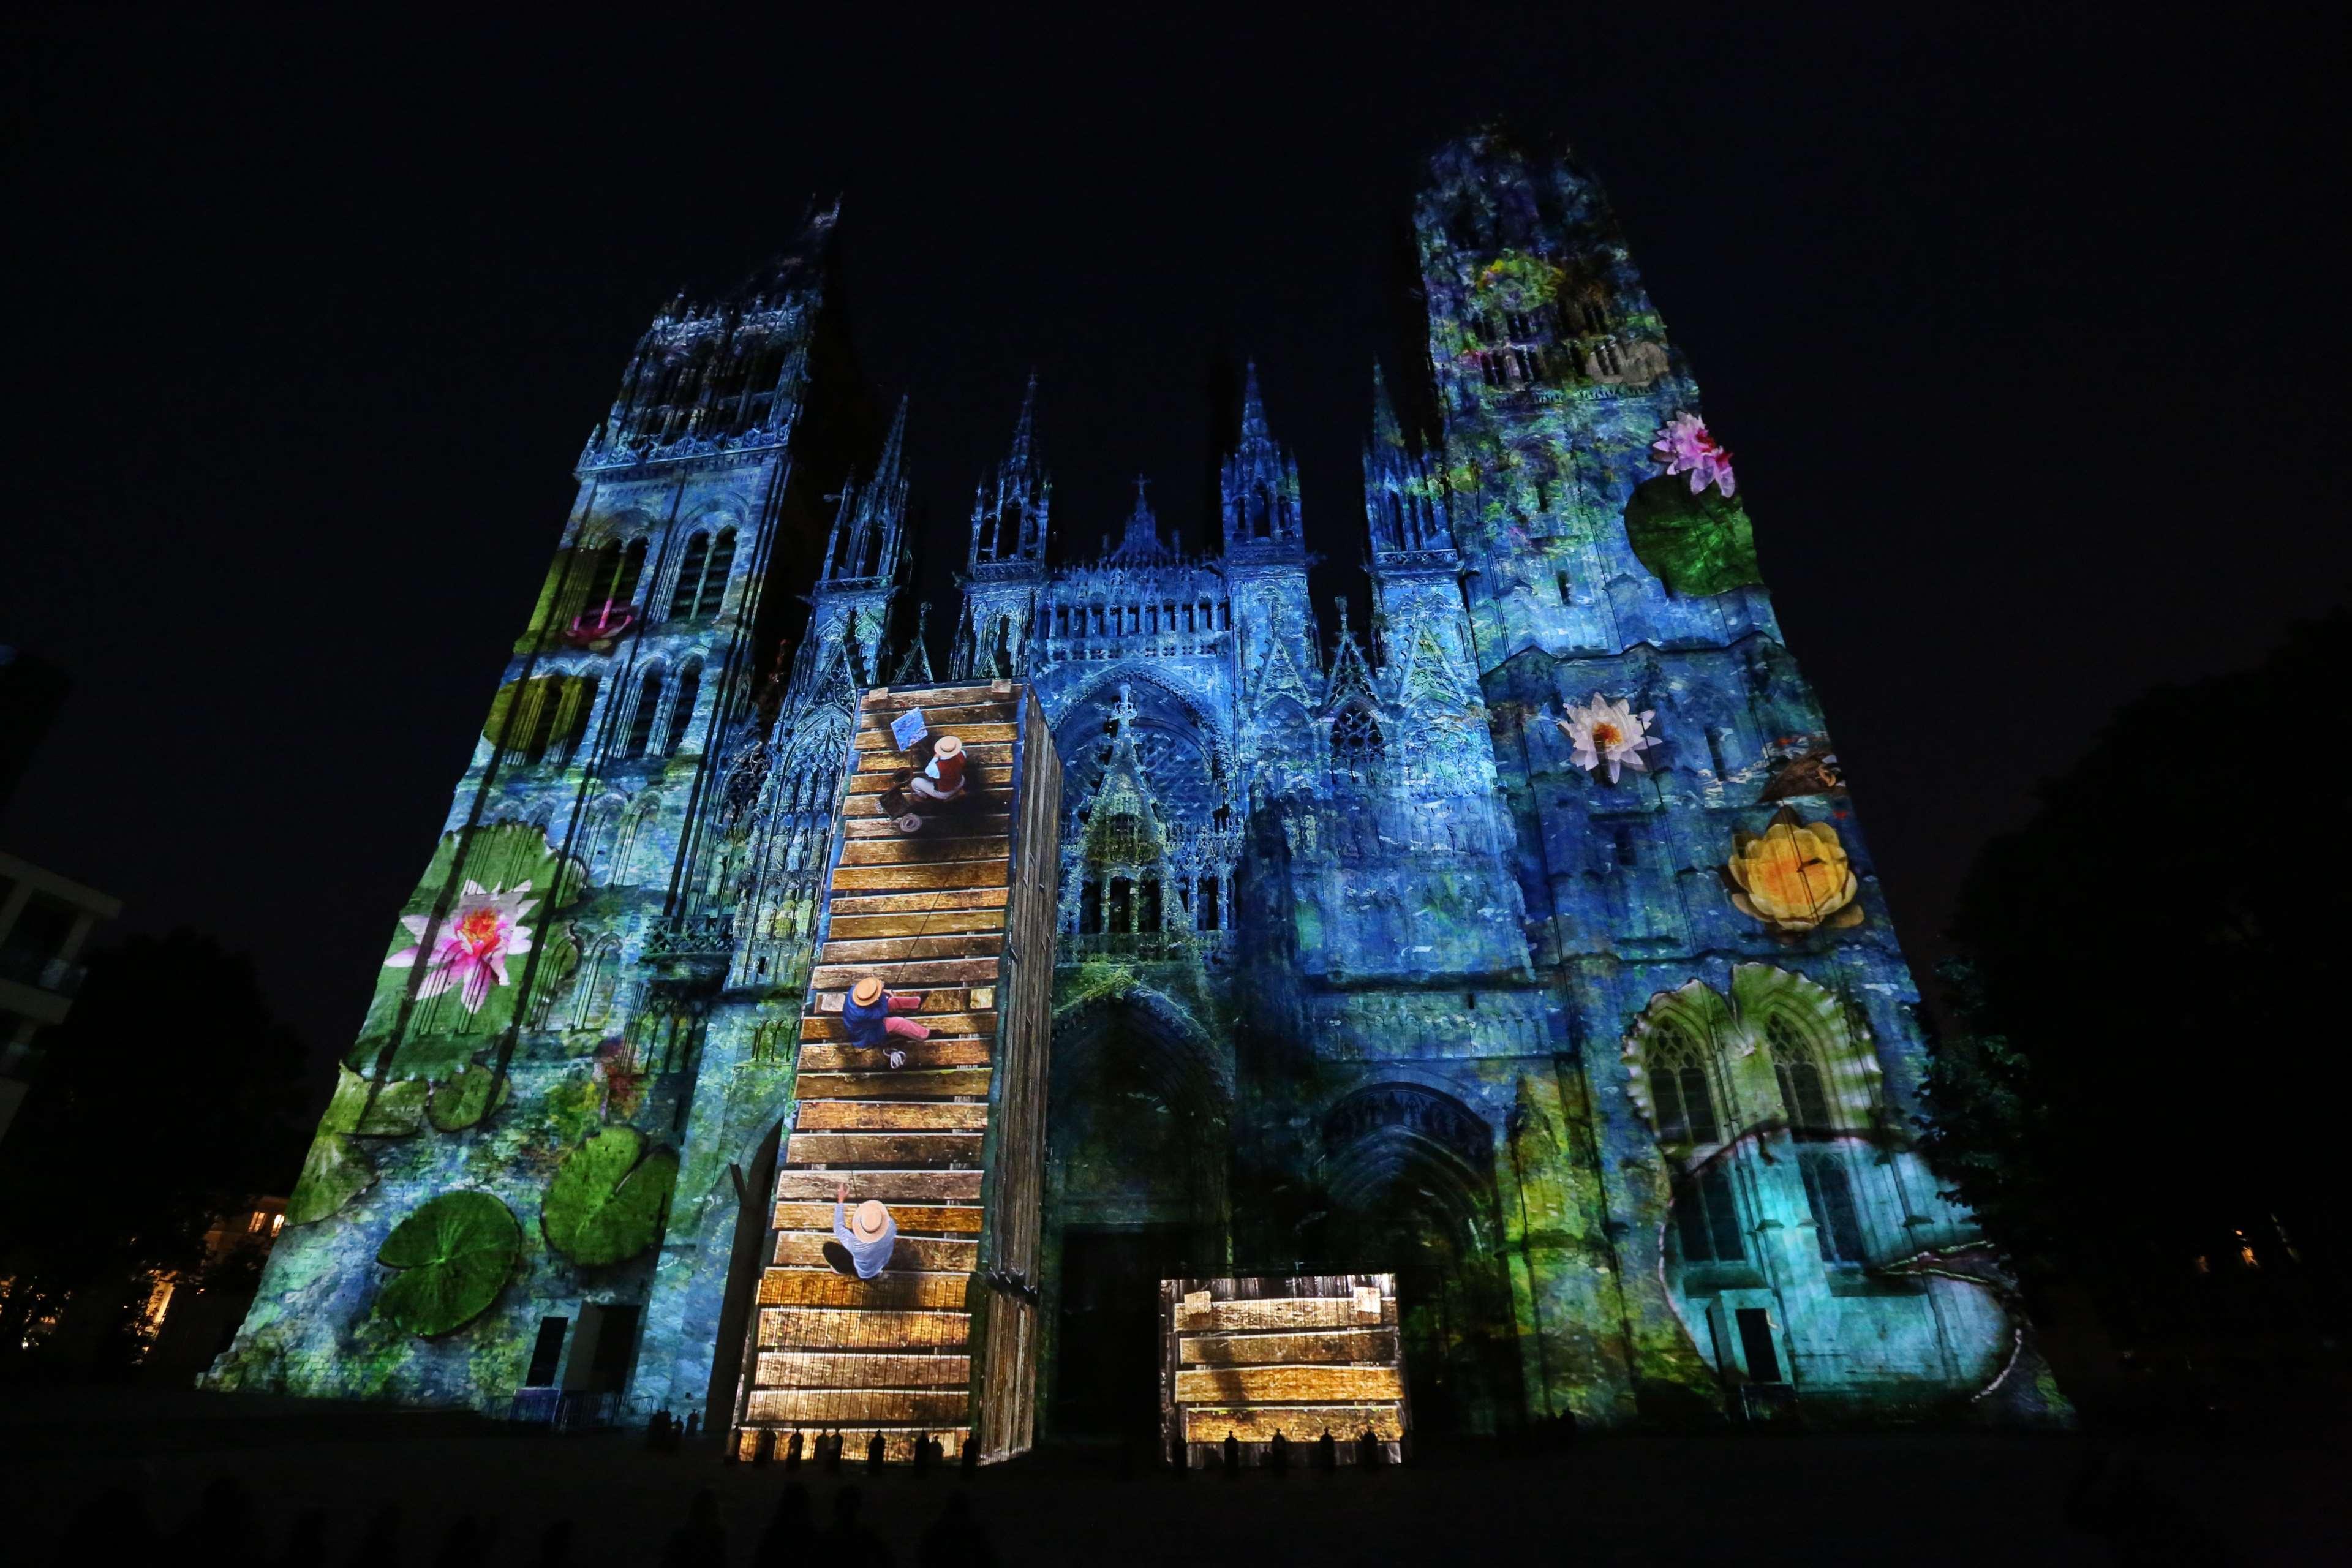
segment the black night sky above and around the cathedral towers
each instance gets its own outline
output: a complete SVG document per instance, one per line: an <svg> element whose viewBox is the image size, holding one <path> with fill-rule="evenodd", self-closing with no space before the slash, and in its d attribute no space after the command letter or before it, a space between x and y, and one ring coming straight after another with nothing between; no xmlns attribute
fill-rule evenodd
<svg viewBox="0 0 2352 1568"><path fill-rule="evenodd" d="M1256 355L1317 585L1362 597L1385 247L1416 158L1496 115L1606 181L1917 952L2119 701L2345 597L2319 12L856 12L9 24L0 639L78 684L0 842L252 950L336 1053L637 331L811 193L913 393L929 592L1030 367L1061 538L1141 470L1197 543L1211 364ZM2218 712L2183 755L2293 738Z"/></svg>

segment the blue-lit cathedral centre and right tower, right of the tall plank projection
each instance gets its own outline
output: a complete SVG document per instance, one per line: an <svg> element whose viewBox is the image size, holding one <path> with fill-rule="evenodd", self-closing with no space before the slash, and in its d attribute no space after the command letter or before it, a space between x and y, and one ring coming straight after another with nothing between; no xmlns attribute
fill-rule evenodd
<svg viewBox="0 0 2352 1568"><path fill-rule="evenodd" d="M981 489L955 672L1033 679L1068 766L1049 1410L1117 1422L1136 1276L1397 1269L1428 1429L1748 1382L2046 1413L1910 1152L1917 987L1599 190L1477 136L1414 228L1439 428L1374 371L1371 628L1317 621L1256 371L1211 557L1141 494L1091 564L1007 548L1030 407Z"/></svg>

